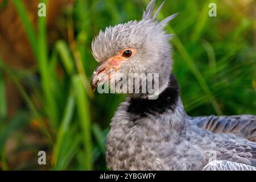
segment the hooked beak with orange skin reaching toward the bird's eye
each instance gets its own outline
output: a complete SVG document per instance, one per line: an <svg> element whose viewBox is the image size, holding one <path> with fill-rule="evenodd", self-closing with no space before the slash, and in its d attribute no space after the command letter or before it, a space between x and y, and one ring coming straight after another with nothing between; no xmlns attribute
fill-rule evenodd
<svg viewBox="0 0 256 182"><path fill-rule="evenodd" d="M110 57L106 61L102 61L93 72L92 78L90 79L90 86L93 91L97 86L104 84L105 81L110 80L112 73L117 72L119 64L123 60L121 56Z"/></svg>

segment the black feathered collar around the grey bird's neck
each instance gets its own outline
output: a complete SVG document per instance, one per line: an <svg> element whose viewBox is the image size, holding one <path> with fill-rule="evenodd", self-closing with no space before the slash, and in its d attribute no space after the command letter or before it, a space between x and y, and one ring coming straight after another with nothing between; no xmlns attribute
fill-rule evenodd
<svg viewBox="0 0 256 182"><path fill-rule="evenodd" d="M162 118L163 121L170 121L174 129L184 127L187 114L179 96L179 86L175 76L170 75L166 89L159 94L156 100L131 97L127 113L133 116L133 121L140 118L155 117Z"/></svg>

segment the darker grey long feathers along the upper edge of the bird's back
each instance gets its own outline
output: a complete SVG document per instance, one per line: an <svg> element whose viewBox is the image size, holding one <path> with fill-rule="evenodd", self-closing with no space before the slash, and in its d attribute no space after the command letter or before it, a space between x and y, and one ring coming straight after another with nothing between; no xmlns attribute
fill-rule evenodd
<svg viewBox="0 0 256 182"><path fill-rule="evenodd" d="M213 133L232 133L256 141L256 116L255 115L233 115L209 117L191 117L191 125L197 125L201 129L207 129Z"/></svg>

